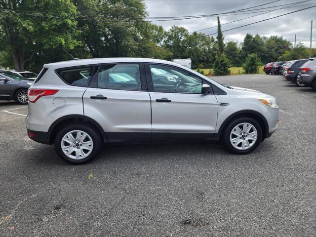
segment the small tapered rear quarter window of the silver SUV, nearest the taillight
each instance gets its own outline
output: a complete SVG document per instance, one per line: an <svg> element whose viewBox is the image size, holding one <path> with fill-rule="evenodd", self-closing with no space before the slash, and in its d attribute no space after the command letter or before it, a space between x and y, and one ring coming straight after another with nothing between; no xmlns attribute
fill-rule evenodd
<svg viewBox="0 0 316 237"><path fill-rule="evenodd" d="M58 75L70 85L88 86L94 66L56 70Z"/></svg>

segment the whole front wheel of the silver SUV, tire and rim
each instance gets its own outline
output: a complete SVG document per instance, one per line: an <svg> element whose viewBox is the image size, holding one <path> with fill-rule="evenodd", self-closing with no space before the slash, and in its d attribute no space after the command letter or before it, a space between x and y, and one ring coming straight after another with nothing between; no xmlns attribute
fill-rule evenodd
<svg viewBox="0 0 316 237"><path fill-rule="evenodd" d="M224 145L236 154L247 154L255 150L262 140L262 128L253 118L237 118L224 132Z"/></svg>

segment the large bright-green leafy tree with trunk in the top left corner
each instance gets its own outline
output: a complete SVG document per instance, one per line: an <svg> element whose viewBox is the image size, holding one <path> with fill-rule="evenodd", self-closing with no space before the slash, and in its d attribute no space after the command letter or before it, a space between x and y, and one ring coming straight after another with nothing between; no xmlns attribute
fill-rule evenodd
<svg viewBox="0 0 316 237"><path fill-rule="evenodd" d="M80 44L76 39L77 21L72 17L77 10L71 1L20 0L16 4L1 1L0 7L9 9L0 14L1 43L12 55L17 71L23 71L25 64L41 50L58 47L69 50ZM14 10L23 10L24 14L16 14ZM72 16L62 17L68 15Z"/></svg>

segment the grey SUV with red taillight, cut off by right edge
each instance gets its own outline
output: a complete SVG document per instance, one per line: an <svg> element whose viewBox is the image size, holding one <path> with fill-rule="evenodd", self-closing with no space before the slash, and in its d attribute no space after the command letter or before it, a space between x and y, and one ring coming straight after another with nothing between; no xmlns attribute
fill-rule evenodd
<svg viewBox="0 0 316 237"><path fill-rule="evenodd" d="M316 90L316 58L310 58L301 66L297 83L310 86Z"/></svg>

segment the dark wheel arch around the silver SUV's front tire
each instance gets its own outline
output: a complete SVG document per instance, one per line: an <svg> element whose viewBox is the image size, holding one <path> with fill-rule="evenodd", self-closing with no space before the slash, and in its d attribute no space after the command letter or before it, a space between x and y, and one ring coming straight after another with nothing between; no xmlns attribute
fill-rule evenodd
<svg viewBox="0 0 316 237"><path fill-rule="evenodd" d="M214 141L220 141L222 140L222 136L223 133L225 131L226 126L231 123L232 121L234 121L237 118L241 118L241 117L249 117L249 118L253 118L256 121L259 122L261 128L262 128L262 141L268 137L269 134L269 124L267 119L260 114L257 111L253 111L253 110L242 110L242 111L238 111L232 115L230 115L228 118L226 118L224 120L224 122L221 124L218 133L215 133L213 140Z"/></svg>

